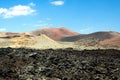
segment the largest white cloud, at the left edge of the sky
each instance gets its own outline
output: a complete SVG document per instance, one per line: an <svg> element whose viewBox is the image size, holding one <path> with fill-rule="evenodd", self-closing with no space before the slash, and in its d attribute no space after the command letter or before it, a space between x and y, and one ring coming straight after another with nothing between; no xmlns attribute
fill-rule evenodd
<svg viewBox="0 0 120 80"><path fill-rule="evenodd" d="M30 6L17 5L11 8L0 8L0 16L3 18L12 18L15 16L27 16L34 13L35 10Z"/></svg>

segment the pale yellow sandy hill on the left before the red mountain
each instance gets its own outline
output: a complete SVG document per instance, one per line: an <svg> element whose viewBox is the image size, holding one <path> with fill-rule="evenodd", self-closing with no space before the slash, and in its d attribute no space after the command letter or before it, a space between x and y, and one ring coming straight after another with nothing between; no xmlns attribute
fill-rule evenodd
<svg viewBox="0 0 120 80"><path fill-rule="evenodd" d="M64 46L45 34L28 35L19 34L17 37L0 38L0 47L29 47L35 49L63 48Z"/></svg>

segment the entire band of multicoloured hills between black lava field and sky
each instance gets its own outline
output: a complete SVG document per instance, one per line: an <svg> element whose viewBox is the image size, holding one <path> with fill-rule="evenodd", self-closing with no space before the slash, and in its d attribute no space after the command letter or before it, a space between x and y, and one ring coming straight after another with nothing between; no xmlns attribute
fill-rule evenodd
<svg viewBox="0 0 120 80"><path fill-rule="evenodd" d="M120 33L100 31L91 34L78 34L66 28L42 28L30 32L0 32L0 47L31 47L96 49L120 46Z"/></svg>

